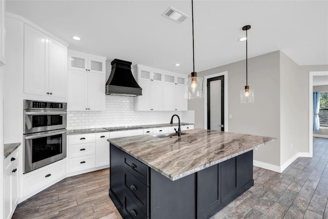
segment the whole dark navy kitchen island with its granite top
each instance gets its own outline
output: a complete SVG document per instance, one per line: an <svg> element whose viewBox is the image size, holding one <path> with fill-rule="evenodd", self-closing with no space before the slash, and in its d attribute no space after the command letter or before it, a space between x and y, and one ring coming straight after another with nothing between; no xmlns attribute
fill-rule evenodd
<svg viewBox="0 0 328 219"><path fill-rule="evenodd" d="M254 185L253 149L275 139L204 129L183 133L109 140L109 195L122 217L211 217Z"/></svg>

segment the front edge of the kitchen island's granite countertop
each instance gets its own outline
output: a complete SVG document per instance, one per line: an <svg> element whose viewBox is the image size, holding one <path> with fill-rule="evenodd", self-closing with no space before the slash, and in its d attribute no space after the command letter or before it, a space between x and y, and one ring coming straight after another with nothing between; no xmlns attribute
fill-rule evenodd
<svg viewBox="0 0 328 219"><path fill-rule="evenodd" d="M190 171L188 171L188 172L181 173L181 174L179 174L179 175L175 175L175 176L172 176L172 175L166 174L165 172L162 172L162 171L159 170L158 168L156 168L156 167L154 167L153 165L150 165L149 163L147 163L147 162L145 162L144 160L142 160L140 157L135 156L134 154L132 154L132 153L126 151L124 148L121 148L121 147L119 147L118 145L116 145L115 143L111 142L110 139L108 139L107 141L108 141L109 143L113 144L115 147L117 147L117 148L121 149L122 151L126 152L126 153L129 154L130 156L136 158L136 159L137 159L138 161L140 161L141 163L143 163L143 164L149 166L150 168L152 168L152 169L155 170L156 172L162 174L163 176L166 176L167 178L169 178L169 179L172 180L172 181L176 181L176 180L179 180L179 179L182 178L182 177L188 176L188 175L193 174L193 173L195 173L195 172L198 172L198 171L200 171L200 170L203 170L203 169L206 169L206 168L208 168L208 167L214 166L214 165L216 165L216 164L218 164L218 163L221 163L221 162L223 162L223 161L227 161L227 160L229 160L230 158L233 158L233 157L236 157L236 156L238 156L238 155L240 155L240 154L246 153L246 152L248 152L248 151L251 151L251 150L257 149L257 148L259 148L259 147L261 147L261 146L263 146L263 145L266 145L266 144L268 144L268 143L270 143L270 142L274 142L275 140L276 140L276 139L270 140L270 141L268 141L268 142L265 142L265 143L262 143L262 144L260 144L260 145L254 146L254 147L252 147L252 148L249 148L249 149L246 149L246 150L243 150L243 151L237 152L237 153L232 154L232 155L230 155L230 156L227 156L227 157L221 158L220 160L217 160L217 161L211 162L211 163L209 163L209 164L206 164L206 165L203 165L203 166L197 167L197 168L192 169L192 170L190 170Z"/></svg>

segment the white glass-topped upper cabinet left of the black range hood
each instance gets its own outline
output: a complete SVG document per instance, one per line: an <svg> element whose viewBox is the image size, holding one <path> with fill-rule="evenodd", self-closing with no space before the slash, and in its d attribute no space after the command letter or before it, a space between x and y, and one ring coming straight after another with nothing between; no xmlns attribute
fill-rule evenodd
<svg viewBox="0 0 328 219"><path fill-rule="evenodd" d="M68 62L68 110L104 111L106 58L73 51Z"/></svg>

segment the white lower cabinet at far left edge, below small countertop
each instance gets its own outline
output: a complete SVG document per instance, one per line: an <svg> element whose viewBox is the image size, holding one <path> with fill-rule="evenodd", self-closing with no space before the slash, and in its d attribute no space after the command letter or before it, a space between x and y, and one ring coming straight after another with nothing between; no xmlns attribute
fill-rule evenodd
<svg viewBox="0 0 328 219"><path fill-rule="evenodd" d="M18 204L18 150L4 160L4 218L11 218Z"/></svg>

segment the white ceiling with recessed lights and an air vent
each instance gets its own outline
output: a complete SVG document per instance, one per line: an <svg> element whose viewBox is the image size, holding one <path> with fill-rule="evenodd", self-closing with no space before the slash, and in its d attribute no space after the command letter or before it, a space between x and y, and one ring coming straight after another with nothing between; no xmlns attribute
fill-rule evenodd
<svg viewBox="0 0 328 219"><path fill-rule="evenodd" d="M194 1L195 70L281 50L298 65L328 64L328 1ZM177 24L168 8L190 18ZM6 10L70 44L69 49L189 74L191 1L6 1ZM81 40L74 41L71 36ZM180 66L174 66L179 63Z"/></svg>

